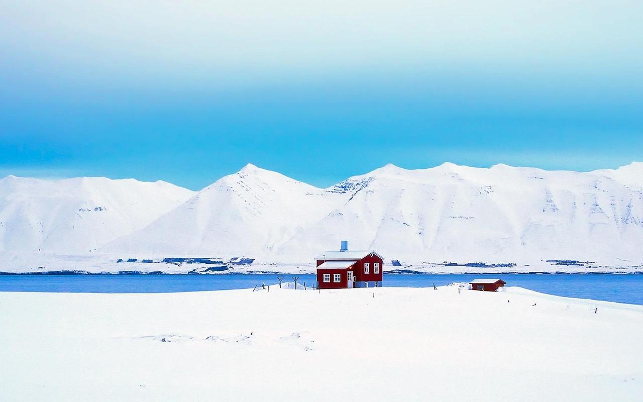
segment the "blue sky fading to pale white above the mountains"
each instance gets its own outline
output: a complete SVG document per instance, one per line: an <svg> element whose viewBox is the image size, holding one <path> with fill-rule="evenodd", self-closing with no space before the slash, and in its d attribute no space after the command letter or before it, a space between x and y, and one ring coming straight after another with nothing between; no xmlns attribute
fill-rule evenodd
<svg viewBox="0 0 643 402"><path fill-rule="evenodd" d="M15 3L0 176L643 161L640 2Z"/></svg>

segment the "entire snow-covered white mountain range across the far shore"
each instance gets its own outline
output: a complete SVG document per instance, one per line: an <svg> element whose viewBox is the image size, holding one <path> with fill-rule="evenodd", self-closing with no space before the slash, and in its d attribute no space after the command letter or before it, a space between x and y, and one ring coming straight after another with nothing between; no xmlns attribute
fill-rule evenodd
<svg viewBox="0 0 643 402"><path fill-rule="evenodd" d="M485 262L516 264L487 272L557 271L566 268L545 260L577 260L574 271L637 271L643 163L594 172L386 165L329 188L248 165L199 192L104 178L0 181L4 271L240 256L312 270L319 250L341 240L412 270Z"/></svg>

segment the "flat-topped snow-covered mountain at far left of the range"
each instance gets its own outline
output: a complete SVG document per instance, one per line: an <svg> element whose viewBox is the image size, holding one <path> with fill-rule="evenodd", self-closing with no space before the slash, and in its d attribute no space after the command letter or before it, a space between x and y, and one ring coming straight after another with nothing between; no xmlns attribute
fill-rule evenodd
<svg viewBox="0 0 643 402"><path fill-rule="evenodd" d="M164 181L7 176L0 179L0 251L89 253L193 195Z"/></svg>

